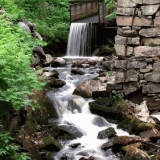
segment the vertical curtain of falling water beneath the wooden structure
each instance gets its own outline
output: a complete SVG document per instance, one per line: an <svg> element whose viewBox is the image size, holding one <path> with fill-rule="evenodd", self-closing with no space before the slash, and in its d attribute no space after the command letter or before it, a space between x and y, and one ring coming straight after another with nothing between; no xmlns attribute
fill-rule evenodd
<svg viewBox="0 0 160 160"><path fill-rule="evenodd" d="M96 47L96 42L96 24L71 23L66 55L68 57L91 56Z"/></svg>

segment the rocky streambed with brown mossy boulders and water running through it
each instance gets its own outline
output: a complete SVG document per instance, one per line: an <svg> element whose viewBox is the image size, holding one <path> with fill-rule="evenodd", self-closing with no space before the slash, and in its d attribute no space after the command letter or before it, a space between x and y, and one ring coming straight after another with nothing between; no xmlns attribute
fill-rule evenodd
<svg viewBox="0 0 160 160"><path fill-rule="evenodd" d="M144 96L139 90L131 95L125 95L124 90L115 89L121 85L118 83L115 83L113 89L115 74L105 68L106 61L107 57L86 57L67 62L65 58L58 57L53 58L48 64L54 67L43 66L43 71L39 73L47 81L46 92L43 94L45 96L43 109L34 112L24 110L24 124L16 133L16 140L21 144L22 152L31 155L32 159L160 159L159 100L157 97ZM65 72L68 67L69 75ZM87 78L81 79L86 73ZM75 81L75 76L78 76L80 82ZM66 79L74 81L76 88L72 88L73 86L68 84L69 81L66 82ZM68 90L67 86L72 88L71 93L65 92ZM127 89L132 90L128 87L125 91ZM58 104L57 110L57 103L53 102L59 90L63 90L62 93L68 94L68 97L80 96L80 101L71 102L69 99L61 99L63 103ZM48 93L50 93L49 97ZM98 116L96 120L94 117L92 123L101 128L98 132L93 130L91 134L101 140L98 151L89 150L81 141L77 141L85 133L73 125L76 118L72 119L72 122L69 119L68 122L63 121L63 117L67 117L64 114L66 110L69 114L67 118L82 112L81 107L85 104L83 98L88 100L89 112ZM68 102L76 107L69 108ZM83 118L79 117L80 121L83 121ZM84 141L87 143L89 139ZM96 141L93 140L92 144L95 143ZM65 150L66 144L67 150ZM64 150L66 152L63 152Z"/></svg>

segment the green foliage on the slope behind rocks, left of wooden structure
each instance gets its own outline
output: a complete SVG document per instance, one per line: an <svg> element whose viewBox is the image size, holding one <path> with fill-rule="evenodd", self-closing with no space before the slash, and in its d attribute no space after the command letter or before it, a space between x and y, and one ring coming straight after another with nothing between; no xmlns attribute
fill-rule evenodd
<svg viewBox="0 0 160 160"><path fill-rule="evenodd" d="M54 41L67 41L68 0L0 0L12 20L27 19L37 24L37 31Z"/></svg>

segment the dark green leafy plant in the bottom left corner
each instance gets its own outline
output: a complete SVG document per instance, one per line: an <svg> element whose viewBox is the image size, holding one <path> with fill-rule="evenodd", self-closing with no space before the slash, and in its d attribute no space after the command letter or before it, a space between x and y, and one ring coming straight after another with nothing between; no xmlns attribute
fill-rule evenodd
<svg viewBox="0 0 160 160"><path fill-rule="evenodd" d="M2 127L2 126L0 126ZM4 160L29 160L28 156L19 154L19 147L12 144L13 138L6 131L0 129L0 159Z"/></svg>

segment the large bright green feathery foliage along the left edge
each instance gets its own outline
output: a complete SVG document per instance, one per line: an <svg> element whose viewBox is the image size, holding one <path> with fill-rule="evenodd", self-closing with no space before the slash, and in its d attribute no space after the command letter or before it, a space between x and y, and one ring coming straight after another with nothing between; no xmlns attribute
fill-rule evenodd
<svg viewBox="0 0 160 160"><path fill-rule="evenodd" d="M18 110L29 103L26 95L44 86L30 68L32 49L43 43L4 16L0 15L0 102L10 103Z"/></svg>

